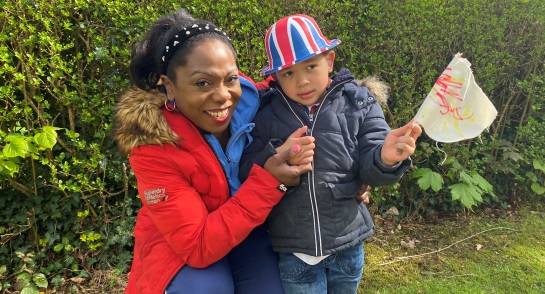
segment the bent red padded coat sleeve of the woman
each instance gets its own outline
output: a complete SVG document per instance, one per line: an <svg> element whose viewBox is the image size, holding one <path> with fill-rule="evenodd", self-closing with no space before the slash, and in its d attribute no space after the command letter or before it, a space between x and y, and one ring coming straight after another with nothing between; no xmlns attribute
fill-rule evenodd
<svg viewBox="0 0 545 294"><path fill-rule="evenodd" d="M131 168L144 205L140 214L142 211L148 214L152 220L148 225L155 226L188 265L207 267L227 255L252 229L262 224L283 193L276 189L280 183L270 173L254 166L238 192L228 198L229 191L225 188L223 194L219 193L225 197L216 199L212 207L215 205L217 209L211 209L211 203L205 203L198 190L226 187L226 184L217 184L217 181L226 181L223 174L219 178L203 175L202 169L210 168L210 163L197 162L186 154L181 160L180 153L174 149L173 146L148 145L136 148L131 154ZM157 240L151 237L143 236ZM149 250L154 249L159 250L150 244Z"/></svg>

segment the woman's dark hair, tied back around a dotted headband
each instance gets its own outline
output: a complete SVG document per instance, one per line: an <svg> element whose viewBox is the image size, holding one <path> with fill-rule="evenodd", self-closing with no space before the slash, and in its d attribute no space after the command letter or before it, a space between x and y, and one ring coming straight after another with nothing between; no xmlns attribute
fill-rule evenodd
<svg viewBox="0 0 545 294"><path fill-rule="evenodd" d="M213 25L206 20L193 18L185 9L180 9L172 15L163 16L155 21L144 38L134 44L131 54L129 78L132 85L143 90L157 88L157 82L163 74L162 60L165 46L181 30L192 25ZM176 81L175 69L187 64L187 56L193 49L206 40L220 40L225 43L236 56L235 49L229 38L215 32L201 33L179 44L176 52L170 58L166 75Z"/></svg>

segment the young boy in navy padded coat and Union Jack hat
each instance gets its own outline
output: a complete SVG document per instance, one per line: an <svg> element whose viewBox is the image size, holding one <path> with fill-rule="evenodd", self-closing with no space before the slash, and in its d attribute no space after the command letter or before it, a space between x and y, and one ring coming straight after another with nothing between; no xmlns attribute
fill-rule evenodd
<svg viewBox="0 0 545 294"><path fill-rule="evenodd" d="M262 92L241 180L253 163L290 148L288 136L295 129L307 126L307 135L315 138L313 170L301 176L301 184L288 190L268 218L288 294L356 293L363 273L362 241L373 234L373 222L354 196L362 183L398 181L422 132L413 123L390 131L367 87L359 86L347 69L329 76L332 49L340 43L328 40L311 17L301 14L277 21L265 37L269 66L261 74L274 81ZM409 129L411 135L405 135Z"/></svg>

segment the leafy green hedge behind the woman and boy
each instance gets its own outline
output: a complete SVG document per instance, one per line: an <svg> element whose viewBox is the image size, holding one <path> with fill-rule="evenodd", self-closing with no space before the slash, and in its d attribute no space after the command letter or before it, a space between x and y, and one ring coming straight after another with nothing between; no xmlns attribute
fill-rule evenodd
<svg viewBox="0 0 545 294"><path fill-rule="evenodd" d="M414 168L376 188L375 213L425 216L543 201L545 6L540 0L183 1L224 28L240 68L259 79L263 37L277 19L313 16L343 43L336 69L391 86L392 127L408 122L457 52L499 115L480 139L425 135ZM179 1L15 1L0 10L0 290L77 285L126 273L140 207L126 158L109 137L128 86L130 45ZM527 171L530 171L528 173ZM540 194L541 193L541 194ZM483 205L481 205L483 207ZM19 281L16 283L16 281ZM47 286L46 286L47 285Z"/></svg>

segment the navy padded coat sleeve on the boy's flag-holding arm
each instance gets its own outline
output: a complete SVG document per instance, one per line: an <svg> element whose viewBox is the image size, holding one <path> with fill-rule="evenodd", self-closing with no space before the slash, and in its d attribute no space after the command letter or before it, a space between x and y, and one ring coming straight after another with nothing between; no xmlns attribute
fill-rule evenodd
<svg viewBox="0 0 545 294"><path fill-rule="evenodd" d="M384 113L376 102L369 105L358 134L360 156L360 180L372 187L391 185L403 176L410 167L410 159L387 166L382 163L380 153L390 127Z"/></svg>

